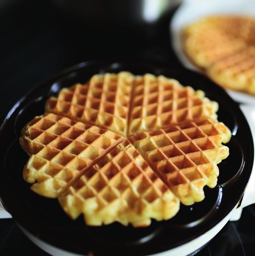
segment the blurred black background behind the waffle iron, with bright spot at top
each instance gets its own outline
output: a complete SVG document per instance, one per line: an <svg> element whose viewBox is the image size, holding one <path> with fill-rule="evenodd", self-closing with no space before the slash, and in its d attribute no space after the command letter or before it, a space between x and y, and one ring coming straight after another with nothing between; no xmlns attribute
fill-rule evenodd
<svg viewBox="0 0 255 256"><path fill-rule="evenodd" d="M159 59L180 65L169 41L179 0L1 0L0 116L31 87L77 63Z"/></svg>

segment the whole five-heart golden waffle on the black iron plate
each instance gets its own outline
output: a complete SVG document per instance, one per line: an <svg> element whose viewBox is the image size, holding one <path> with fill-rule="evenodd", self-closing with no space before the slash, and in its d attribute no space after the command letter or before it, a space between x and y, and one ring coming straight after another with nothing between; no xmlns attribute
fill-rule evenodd
<svg viewBox="0 0 255 256"><path fill-rule="evenodd" d="M216 186L231 136L217 109L164 76L95 75L60 90L23 128L23 177L87 225L169 219Z"/></svg>

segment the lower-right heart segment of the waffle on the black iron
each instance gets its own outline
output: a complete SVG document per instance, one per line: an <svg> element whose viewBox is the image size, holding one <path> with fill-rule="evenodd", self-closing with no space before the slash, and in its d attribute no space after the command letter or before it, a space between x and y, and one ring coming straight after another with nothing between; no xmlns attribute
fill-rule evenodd
<svg viewBox="0 0 255 256"><path fill-rule="evenodd" d="M221 143L230 137L223 123L207 119L143 132L131 142L181 202L191 205L204 199L205 185L216 186L217 164L229 154Z"/></svg>

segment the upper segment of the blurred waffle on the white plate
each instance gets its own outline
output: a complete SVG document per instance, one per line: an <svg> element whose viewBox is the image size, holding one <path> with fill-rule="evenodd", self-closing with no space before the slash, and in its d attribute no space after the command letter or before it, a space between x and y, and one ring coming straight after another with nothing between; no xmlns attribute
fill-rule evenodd
<svg viewBox="0 0 255 256"><path fill-rule="evenodd" d="M254 33L255 20L251 18L206 17L184 29L184 51L197 66L207 68L254 44Z"/></svg>

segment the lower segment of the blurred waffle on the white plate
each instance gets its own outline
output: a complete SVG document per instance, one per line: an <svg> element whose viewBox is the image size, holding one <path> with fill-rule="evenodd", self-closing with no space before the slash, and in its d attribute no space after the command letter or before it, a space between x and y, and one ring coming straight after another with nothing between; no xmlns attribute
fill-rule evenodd
<svg viewBox="0 0 255 256"><path fill-rule="evenodd" d="M221 86L255 95L255 46L215 62L206 72Z"/></svg>

